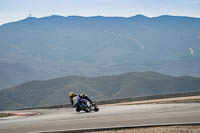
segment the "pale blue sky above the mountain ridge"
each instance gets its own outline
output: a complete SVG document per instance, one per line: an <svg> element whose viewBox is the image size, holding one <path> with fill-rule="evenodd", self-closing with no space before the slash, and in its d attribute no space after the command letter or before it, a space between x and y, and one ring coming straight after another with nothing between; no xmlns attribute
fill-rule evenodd
<svg viewBox="0 0 200 133"><path fill-rule="evenodd" d="M0 25L28 17L143 14L200 18L200 0L0 0Z"/></svg>

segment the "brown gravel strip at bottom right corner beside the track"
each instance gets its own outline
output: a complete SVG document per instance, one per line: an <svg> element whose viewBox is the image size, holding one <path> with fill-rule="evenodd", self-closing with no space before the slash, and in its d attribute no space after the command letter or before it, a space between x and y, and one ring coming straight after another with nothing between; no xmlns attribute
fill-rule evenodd
<svg viewBox="0 0 200 133"><path fill-rule="evenodd" d="M200 133L200 125L133 128L88 133Z"/></svg>

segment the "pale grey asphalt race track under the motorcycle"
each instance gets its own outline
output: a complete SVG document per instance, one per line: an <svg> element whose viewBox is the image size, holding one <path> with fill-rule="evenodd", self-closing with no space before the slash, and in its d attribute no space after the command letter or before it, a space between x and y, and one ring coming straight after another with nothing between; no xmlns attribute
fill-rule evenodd
<svg viewBox="0 0 200 133"><path fill-rule="evenodd" d="M200 122L200 103L103 105L92 113L77 113L72 108L18 112L37 115L1 118L0 133Z"/></svg>

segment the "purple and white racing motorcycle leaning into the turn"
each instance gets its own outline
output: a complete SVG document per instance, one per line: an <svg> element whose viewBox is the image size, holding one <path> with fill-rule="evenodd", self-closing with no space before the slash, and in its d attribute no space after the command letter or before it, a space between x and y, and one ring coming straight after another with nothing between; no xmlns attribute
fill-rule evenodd
<svg viewBox="0 0 200 133"><path fill-rule="evenodd" d="M99 108L97 107L96 104L91 104L88 100L79 97L79 96L75 96L73 98L73 106L76 107L76 111L80 112L81 110L85 111L85 112L91 112L91 111L99 111Z"/></svg>

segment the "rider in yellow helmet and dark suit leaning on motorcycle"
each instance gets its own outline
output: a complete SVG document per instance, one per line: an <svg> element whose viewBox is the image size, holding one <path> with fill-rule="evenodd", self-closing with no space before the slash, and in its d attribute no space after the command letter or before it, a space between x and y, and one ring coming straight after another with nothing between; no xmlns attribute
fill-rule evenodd
<svg viewBox="0 0 200 133"><path fill-rule="evenodd" d="M69 93L69 98L70 98L70 102L71 102L71 104L72 104L73 107L74 107L74 105L73 105L73 98L74 98L75 96L79 96L79 97L81 97L81 98L83 98L83 99L86 99L86 100L88 100L91 104L95 105L95 103L93 103L93 101L92 101L91 99L89 99L87 95L83 95L83 94L77 95L77 94L74 93L74 92L70 92L70 93ZM78 111L78 112L80 111L80 108L79 108L78 106L76 107L76 111Z"/></svg>

